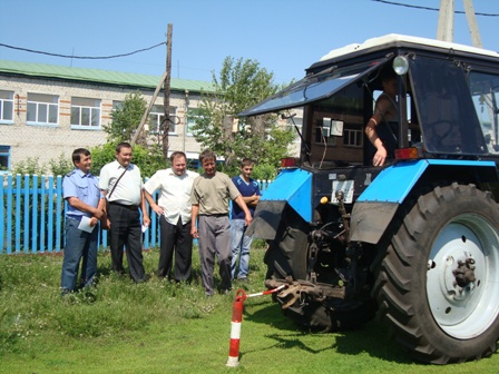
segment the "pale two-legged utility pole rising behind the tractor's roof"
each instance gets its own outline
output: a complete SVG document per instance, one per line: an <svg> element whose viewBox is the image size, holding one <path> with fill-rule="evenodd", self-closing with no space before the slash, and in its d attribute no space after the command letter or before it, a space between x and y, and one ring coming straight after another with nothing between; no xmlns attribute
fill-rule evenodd
<svg viewBox="0 0 499 374"><path fill-rule="evenodd" d="M462 0L464 6L468 28L473 47L482 48L480 32L478 31L477 17L474 14L473 1ZM454 0L440 0L439 24L437 39L442 41L454 41Z"/></svg>

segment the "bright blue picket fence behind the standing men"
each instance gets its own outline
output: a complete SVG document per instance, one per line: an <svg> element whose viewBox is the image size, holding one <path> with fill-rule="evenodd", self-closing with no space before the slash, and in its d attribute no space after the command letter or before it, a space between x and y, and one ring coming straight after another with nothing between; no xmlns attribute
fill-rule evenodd
<svg viewBox="0 0 499 374"><path fill-rule="evenodd" d="M270 183L260 181L262 193ZM2 180L0 175L0 255L60 252L67 205L62 196L61 176L4 175ZM159 245L159 219L147 208L150 227L144 234L145 249ZM107 232L100 228L99 244L108 247Z"/></svg>

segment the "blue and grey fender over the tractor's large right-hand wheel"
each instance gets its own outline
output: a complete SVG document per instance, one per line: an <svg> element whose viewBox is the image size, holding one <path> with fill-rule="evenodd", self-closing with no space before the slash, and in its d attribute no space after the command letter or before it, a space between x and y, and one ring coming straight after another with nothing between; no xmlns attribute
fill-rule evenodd
<svg viewBox="0 0 499 374"><path fill-rule="evenodd" d="M383 169L356 199L351 215L351 236L353 242L378 244L392 222L399 206L424 175L449 168L470 171L479 181L497 181L498 174L493 161L424 159L401 161ZM460 174L454 174L459 176Z"/></svg>

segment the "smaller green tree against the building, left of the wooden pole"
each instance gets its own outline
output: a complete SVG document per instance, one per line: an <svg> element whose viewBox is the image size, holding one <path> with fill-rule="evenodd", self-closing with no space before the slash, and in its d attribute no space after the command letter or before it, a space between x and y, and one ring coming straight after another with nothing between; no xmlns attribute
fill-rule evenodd
<svg viewBox="0 0 499 374"><path fill-rule="evenodd" d="M147 101L140 91L128 94L120 107L112 110L111 122L102 126L102 130L108 134L108 140L116 144L121 141L131 142L134 132L140 124L146 109ZM146 134L144 130L140 131L137 144L146 145Z"/></svg>

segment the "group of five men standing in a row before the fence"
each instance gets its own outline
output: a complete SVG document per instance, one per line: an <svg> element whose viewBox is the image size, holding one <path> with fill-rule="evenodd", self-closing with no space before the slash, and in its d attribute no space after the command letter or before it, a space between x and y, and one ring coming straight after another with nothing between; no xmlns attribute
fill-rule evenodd
<svg viewBox="0 0 499 374"><path fill-rule="evenodd" d="M119 144L116 160L105 165L97 179L90 173L90 152L84 148L74 151L75 169L62 183L63 197L68 201L62 294L78 288L80 263L79 286L94 284L98 235L94 228L100 219L109 227L112 270L125 273L125 247L130 277L136 283L145 280L141 235L150 224L146 200L159 216L158 277L189 280L193 238L198 238L202 280L207 296L214 294L216 258L222 293L232 289L233 278L247 279L252 239L244 233L261 196L258 184L250 177L254 163L243 159L241 175L231 179L216 170L213 151L205 150L199 155L202 175L188 170L186 155L175 151L170 156L172 167L156 171L143 185L140 170L131 164L131 146ZM159 191L157 203L153 198L156 191ZM234 201L232 222L229 199Z"/></svg>

